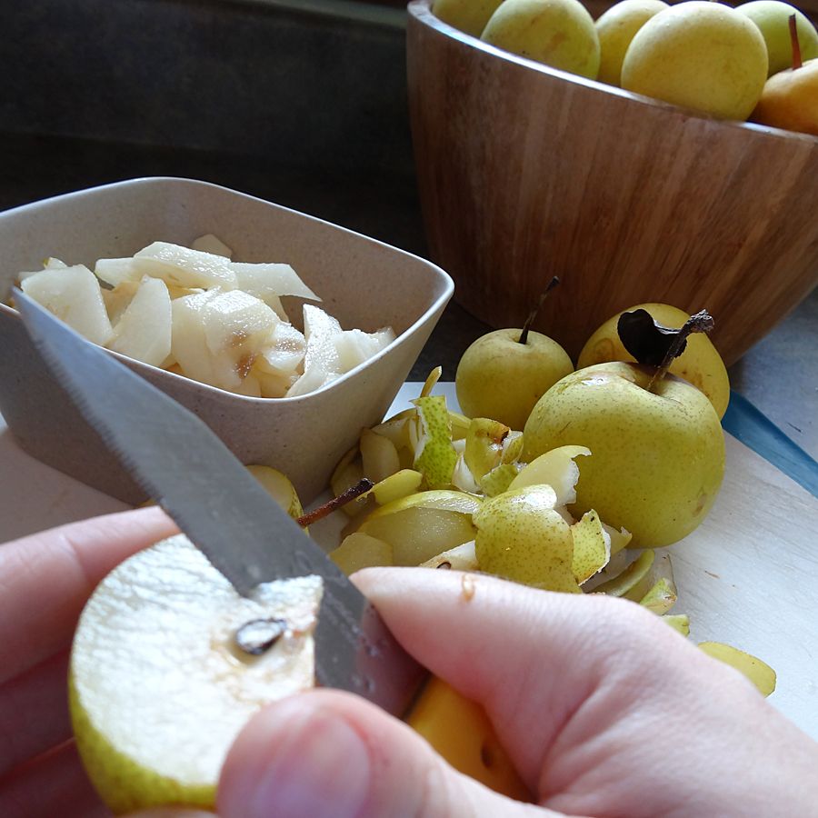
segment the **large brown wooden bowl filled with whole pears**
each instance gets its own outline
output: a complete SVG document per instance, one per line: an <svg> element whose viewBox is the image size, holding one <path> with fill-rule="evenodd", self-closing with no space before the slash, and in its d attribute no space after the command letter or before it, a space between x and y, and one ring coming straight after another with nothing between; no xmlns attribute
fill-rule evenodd
<svg viewBox="0 0 818 818"><path fill-rule="evenodd" d="M508 54L409 5L424 223L454 299L576 358L663 302L715 319L726 364L818 284L818 139L723 122Z"/></svg>

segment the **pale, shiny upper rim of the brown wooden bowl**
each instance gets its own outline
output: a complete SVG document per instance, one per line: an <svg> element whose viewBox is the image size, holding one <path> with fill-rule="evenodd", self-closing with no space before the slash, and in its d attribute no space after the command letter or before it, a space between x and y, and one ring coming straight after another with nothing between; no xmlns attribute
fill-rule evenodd
<svg viewBox="0 0 818 818"><path fill-rule="evenodd" d="M561 71L559 68L552 68L550 65L538 63L536 60L530 60L527 57L513 54L510 51L504 51L502 48L498 48L495 45L490 45L489 43L484 43L484 41L479 37L466 34L465 32L454 28L454 25L444 23L443 20L435 17L432 12L432 2L433 0L410 0L409 5L407 6L409 15L414 17L418 23L434 29L434 31L440 35L457 40L458 42L463 43L465 46L474 48L477 51L482 51L485 54L499 57L507 63L523 65L525 68L533 69L539 74L561 79L565 82L573 83L574 85L582 85L594 92L618 96L633 105L650 106L652 108L665 110L668 113L673 113L676 115L681 113L690 119L703 120L705 122L723 125L724 127L747 131L751 134L773 136L778 139L786 140L794 139L797 141L812 143L813 145L818 143L818 136L803 134L799 131L787 131L783 128L773 127L773 125L761 125L760 123L742 122L741 120L734 119L718 119L714 116L703 115L698 111L693 111L691 108L685 108L683 105L673 105L672 103L666 103L662 100L653 99L653 97L650 96L634 94L632 91L626 91L623 88L616 87L615 85L607 85L606 83L600 83L597 80L588 79L584 76L570 74L567 71Z"/></svg>

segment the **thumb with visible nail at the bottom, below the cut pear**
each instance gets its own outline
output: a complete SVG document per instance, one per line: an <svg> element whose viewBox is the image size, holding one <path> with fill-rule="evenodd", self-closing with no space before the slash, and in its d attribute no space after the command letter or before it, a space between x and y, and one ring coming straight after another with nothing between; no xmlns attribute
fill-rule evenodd
<svg viewBox="0 0 818 818"><path fill-rule="evenodd" d="M350 693L315 690L258 713L234 743L222 818L544 814L457 773L417 733Z"/></svg>

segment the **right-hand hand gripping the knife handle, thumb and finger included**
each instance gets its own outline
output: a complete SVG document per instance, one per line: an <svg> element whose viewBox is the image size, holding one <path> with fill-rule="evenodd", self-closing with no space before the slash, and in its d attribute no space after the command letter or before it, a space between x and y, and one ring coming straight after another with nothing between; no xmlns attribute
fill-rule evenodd
<svg viewBox="0 0 818 818"><path fill-rule="evenodd" d="M455 773L404 723L330 690L275 703L224 765L222 818L818 815L818 744L639 605L492 577L354 577L409 653L482 703L542 806Z"/></svg>

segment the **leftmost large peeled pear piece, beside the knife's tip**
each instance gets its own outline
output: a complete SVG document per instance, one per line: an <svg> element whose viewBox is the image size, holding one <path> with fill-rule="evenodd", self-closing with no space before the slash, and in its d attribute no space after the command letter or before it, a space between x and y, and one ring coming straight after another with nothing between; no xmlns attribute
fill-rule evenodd
<svg viewBox="0 0 818 818"><path fill-rule="evenodd" d="M95 344L107 344L114 333L99 281L85 264L41 270L20 282L20 288Z"/></svg>

